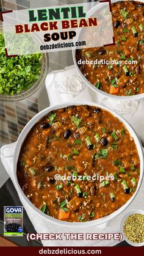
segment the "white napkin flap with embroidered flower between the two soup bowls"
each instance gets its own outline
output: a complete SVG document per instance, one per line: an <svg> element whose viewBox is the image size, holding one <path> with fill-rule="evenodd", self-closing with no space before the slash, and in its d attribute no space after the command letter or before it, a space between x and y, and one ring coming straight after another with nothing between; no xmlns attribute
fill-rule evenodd
<svg viewBox="0 0 144 256"><path fill-rule="evenodd" d="M92 101L89 89L79 77L74 65L64 70L52 71L47 75L45 84L51 105L64 101Z"/></svg>

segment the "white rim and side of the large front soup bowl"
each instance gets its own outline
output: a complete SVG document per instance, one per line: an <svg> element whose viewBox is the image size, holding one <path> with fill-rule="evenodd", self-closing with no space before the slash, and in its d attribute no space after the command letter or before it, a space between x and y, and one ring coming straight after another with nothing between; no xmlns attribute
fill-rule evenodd
<svg viewBox="0 0 144 256"><path fill-rule="evenodd" d="M54 111L54 110L59 109L59 108L65 108L65 107L70 106L70 105L84 105L84 104L85 104L85 101L67 102L67 103L63 103L63 104L57 104L56 106L50 106L49 108L44 109L43 111L41 111L37 115L35 115L35 117L33 117L29 121L29 123L27 123L27 125L24 127L23 131L21 132L20 136L18 137L18 141L16 142L16 147L15 147L15 152L14 152L13 174L12 174L16 191L18 192L18 195L19 195L20 200L23 203L24 207L26 209L30 209L31 211L33 211L34 215L37 214L38 218L43 219L43 221L45 221L45 222L51 222L51 223L56 224L56 225L65 225L67 227L90 227L90 226L93 226L93 225L104 224L104 222L110 221L110 219L113 219L118 214L122 213L122 211L124 211L129 206L129 204L132 202L132 200L134 200L134 197L136 196L137 192L139 191L140 185L142 183L142 178L143 178L143 148L142 148L142 144L139 140L139 137L137 137L137 134L132 129L131 125L129 125L129 123L126 122L126 120L124 120L120 115L111 111L110 109L108 109L104 106L101 106L100 104L96 104L96 103L93 103L93 102L87 102L87 104L89 106L96 106L98 108L105 109L106 111L109 111L112 115L117 117L121 122L124 123L124 125L126 126L126 128L129 131L129 133L134 138L134 141L135 141L135 144L136 144L136 147L137 147L137 151L139 153L139 158L140 158L140 179L139 179L139 183L137 185L137 189L136 189L134 195L131 197L131 199L128 200L128 202L126 202L121 208L119 208L117 211L113 212L112 214L109 214L106 217L96 219L94 221L88 221L88 222L67 222L67 221L59 221L58 219L54 219L51 216L47 216L46 214L44 214L40 210L38 210L38 208L36 208L29 201L29 199L27 199L27 197L24 195L24 193L23 193L23 191L22 191L22 189L21 189L21 187L18 183L18 179L17 179L17 176L16 176L16 168L17 168L18 157L20 155L21 146L23 145L24 139L26 138L27 134L29 133L31 128L35 125L35 123L37 123L45 115L48 115L48 113L50 111Z"/></svg>

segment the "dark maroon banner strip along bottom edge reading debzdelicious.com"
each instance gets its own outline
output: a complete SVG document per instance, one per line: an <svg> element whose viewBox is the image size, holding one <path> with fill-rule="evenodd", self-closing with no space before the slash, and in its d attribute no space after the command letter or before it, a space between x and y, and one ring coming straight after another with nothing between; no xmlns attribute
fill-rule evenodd
<svg viewBox="0 0 144 256"><path fill-rule="evenodd" d="M1 247L1 255L107 255L143 254L143 247ZM3 254L2 254L3 253Z"/></svg>

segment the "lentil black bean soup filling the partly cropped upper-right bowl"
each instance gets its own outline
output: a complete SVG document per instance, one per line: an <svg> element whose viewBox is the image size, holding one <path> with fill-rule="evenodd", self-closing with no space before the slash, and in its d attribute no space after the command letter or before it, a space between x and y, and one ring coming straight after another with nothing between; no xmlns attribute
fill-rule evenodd
<svg viewBox="0 0 144 256"><path fill-rule="evenodd" d="M116 64L79 64L85 78L96 88L118 96L144 92L144 3L112 4L115 45L76 51L76 60L115 60ZM136 60L137 63L133 62ZM127 62L126 62L127 61ZM83 62L84 63L84 62ZM127 63L127 64L126 64Z"/></svg>

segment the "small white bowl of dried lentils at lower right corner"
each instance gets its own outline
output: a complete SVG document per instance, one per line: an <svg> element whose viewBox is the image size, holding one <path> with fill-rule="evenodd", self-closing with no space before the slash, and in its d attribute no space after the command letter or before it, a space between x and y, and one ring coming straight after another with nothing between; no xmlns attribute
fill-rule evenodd
<svg viewBox="0 0 144 256"><path fill-rule="evenodd" d="M132 210L121 221L121 233L131 246L144 246L144 211Z"/></svg>

